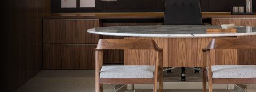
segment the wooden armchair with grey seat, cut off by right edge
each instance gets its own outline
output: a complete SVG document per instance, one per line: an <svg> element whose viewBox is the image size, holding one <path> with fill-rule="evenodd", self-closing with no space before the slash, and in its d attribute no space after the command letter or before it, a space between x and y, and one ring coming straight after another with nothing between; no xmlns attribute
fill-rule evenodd
<svg viewBox="0 0 256 92"><path fill-rule="evenodd" d="M256 83L256 65L211 65L212 49L256 49L256 39L213 39L203 49L203 91L209 92L212 84L251 84Z"/></svg>

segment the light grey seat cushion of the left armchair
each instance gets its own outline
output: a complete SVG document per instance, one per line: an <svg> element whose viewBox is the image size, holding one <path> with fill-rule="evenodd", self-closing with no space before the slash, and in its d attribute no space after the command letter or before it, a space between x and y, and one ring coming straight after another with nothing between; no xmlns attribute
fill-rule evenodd
<svg viewBox="0 0 256 92"><path fill-rule="evenodd" d="M100 78L154 78L154 66L102 66Z"/></svg>

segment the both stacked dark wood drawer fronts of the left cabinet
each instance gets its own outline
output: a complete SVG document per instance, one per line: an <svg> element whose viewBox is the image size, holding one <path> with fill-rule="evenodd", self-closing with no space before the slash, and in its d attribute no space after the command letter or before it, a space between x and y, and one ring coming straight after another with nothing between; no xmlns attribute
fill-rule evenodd
<svg viewBox="0 0 256 92"><path fill-rule="evenodd" d="M87 29L101 26L99 19L44 19L43 26L43 69L95 68L99 35Z"/></svg>

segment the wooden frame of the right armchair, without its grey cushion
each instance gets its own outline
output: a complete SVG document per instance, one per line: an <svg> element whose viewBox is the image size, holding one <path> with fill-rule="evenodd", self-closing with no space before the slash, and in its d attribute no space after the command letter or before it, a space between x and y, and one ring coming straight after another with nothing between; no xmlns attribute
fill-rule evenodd
<svg viewBox="0 0 256 92"><path fill-rule="evenodd" d="M209 92L212 92L212 84L251 84L256 83L256 78L213 78L211 68L210 51L213 49L256 49L256 39L213 39L203 49L203 91L206 92L206 81L209 84ZM208 70L206 69L208 68Z"/></svg>

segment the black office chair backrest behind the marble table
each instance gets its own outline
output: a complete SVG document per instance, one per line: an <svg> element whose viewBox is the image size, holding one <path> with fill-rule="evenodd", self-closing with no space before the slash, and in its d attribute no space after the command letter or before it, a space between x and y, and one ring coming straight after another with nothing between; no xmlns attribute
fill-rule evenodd
<svg viewBox="0 0 256 92"><path fill-rule="evenodd" d="M166 0L164 25L202 25L200 0Z"/></svg>

